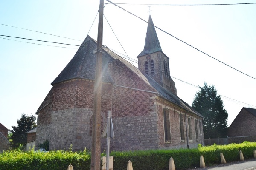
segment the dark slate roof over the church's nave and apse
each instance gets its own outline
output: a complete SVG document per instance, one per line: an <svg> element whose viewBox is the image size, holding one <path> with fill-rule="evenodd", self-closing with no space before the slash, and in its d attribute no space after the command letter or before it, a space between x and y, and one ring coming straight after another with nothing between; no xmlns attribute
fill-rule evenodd
<svg viewBox="0 0 256 170"><path fill-rule="evenodd" d="M151 17L150 17L151 18ZM157 40L158 41L158 40ZM159 43L159 42L158 42ZM67 64L67 66L61 71L58 77L52 82L52 85L66 81L74 78L84 78L84 79L94 79L95 78L95 65L96 56L93 54L93 50L96 49L96 40L87 36L84 42L81 44L80 48L76 52L75 56ZM126 61L113 51L108 48L102 50L102 81L103 82L113 82L111 76L108 74L108 63L115 60L121 61L127 66L134 74L143 79L143 81L151 86L158 92L158 95L168 101L174 103L175 105L188 110L198 116L203 117L200 113L191 108L186 102L180 99L178 96L173 94L171 91L166 90L161 85L159 85L153 78L147 74L143 74L138 68L132 65L130 62Z"/></svg>

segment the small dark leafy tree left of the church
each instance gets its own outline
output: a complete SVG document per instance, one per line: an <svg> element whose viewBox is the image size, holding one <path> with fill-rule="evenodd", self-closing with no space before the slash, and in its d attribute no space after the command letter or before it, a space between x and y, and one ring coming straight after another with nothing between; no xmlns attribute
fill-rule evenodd
<svg viewBox="0 0 256 170"><path fill-rule="evenodd" d="M20 144L25 145L27 142L27 134L26 132L34 127L36 127L35 123L36 117L26 116L24 113L21 114L20 119L17 119L17 126L12 126L12 130L10 132L12 133L12 136L10 136L10 139L12 139L11 146L14 148L17 148L20 146Z"/></svg>

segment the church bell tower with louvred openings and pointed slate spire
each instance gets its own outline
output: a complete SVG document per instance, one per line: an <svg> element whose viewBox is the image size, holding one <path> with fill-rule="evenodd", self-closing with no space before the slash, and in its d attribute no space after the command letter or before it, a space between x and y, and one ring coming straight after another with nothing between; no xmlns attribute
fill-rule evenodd
<svg viewBox="0 0 256 170"><path fill-rule="evenodd" d="M169 57L161 49L151 15L148 19L144 49L137 58L141 72L148 74L163 88L177 95L175 82L170 77Z"/></svg>

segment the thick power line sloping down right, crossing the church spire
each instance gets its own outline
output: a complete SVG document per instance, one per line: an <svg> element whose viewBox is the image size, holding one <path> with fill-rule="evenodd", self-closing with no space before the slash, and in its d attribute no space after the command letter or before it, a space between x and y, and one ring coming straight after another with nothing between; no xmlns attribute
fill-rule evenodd
<svg viewBox="0 0 256 170"><path fill-rule="evenodd" d="M110 0L107 0L108 2L110 2L110 3L112 3ZM115 5L115 6L117 6L117 7L119 7L119 8L121 8L122 10L124 10L124 11L126 11L126 12L128 12L129 14L131 14L131 15L133 15L134 17L137 17L137 18L139 18L140 20L143 20L141 17L138 17L137 15L135 15L135 14L133 14L133 13L131 13L131 12L129 12L129 11L127 11L127 10L125 10L124 8L122 8L122 7L120 7L120 6L118 6L118 5L116 5L115 3L112 3L113 5ZM144 22L146 22L146 23L148 23L147 21L145 21L145 20L143 20ZM152 25L151 23L148 23L148 24L150 24L150 25ZM152 26L154 26L154 25L152 25ZM173 36L172 34L169 34L168 32L166 32L166 31L164 31L164 30L162 30L161 28L159 28L159 27L157 27L157 26L154 26L155 28L157 28L157 29L159 29L160 31L163 31L164 33L166 33L166 34L168 34L168 35L170 35L170 36L172 36L172 37L174 37L175 39L177 39L177 40L179 40L179 41L181 41L181 42L183 42L183 43L185 43L186 45L189 45L188 43L186 43L185 41L183 41L183 40L180 40L179 38L177 38L177 37L175 37L175 36ZM205 52L203 52L203 51L201 51L201 50L199 50L198 48L195 48L194 46L192 46L192 45L189 45L190 47L192 47L192 48L194 48L194 49L196 49L197 51L199 51L199 52L201 52L201 53L203 53L203 54L205 54L205 55L207 55L207 56L209 56L209 57L211 57L212 59L215 59L214 57L212 57L212 56L210 56L209 54L207 54L207 53L205 53ZM224 63L224 62L222 62L222 61L220 61L220 60L218 60L218 59L215 59L215 60L217 60L218 62L221 62L222 64L224 64L224 65L226 65L226 66L228 66L228 67L230 67L230 68L233 68L232 66L230 66L230 65L227 65L226 63ZM236 68L233 68L234 70L236 70L236 71L239 71L238 69L236 69ZM256 79L256 78L254 78L254 77L252 77L252 76L250 76L250 75L248 75L248 74L245 74L244 72L242 72L242 71L239 71L240 73L242 73L242 74L244 74L244 75L246 75L246 76L248 76L248 77L251 77L251 78L253 78L253 79Z"/></svg>

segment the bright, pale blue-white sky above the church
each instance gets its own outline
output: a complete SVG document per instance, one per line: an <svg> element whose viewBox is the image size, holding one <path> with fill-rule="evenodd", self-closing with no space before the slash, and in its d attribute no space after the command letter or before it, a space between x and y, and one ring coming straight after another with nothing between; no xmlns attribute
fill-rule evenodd
<svg viewBox="0 0 256 170"><path fill-rule="evenodd" d="M161 5L256 3L255 0L113 2L151 4L150 10L149 5L119 6L146 21L150 13L155 26L183 41L156 29L162 51L170 58L170 75L176 84L177 96L189 105L192 105L196 92L200 90L195 86L203 86L206 82L214 85L221 95L228 113L228 125L243 107L256 108L256 4ZM117 54L121 56L127 54L131 59L137 60L137 55L144 48L147 23L107 1L104 3L106 19L104 18L103 23L103 45L118 51ZM0 34L12 36L0 36L0 122L4 126L8 129L17 126L17 119L22 113L35 115L52 88L50 83L78 49L78 46L13 37L81 45L89 33L90 37L97 40L98 9L99 0L1 1ZM137 66L137 63L134 65Z"/></svg>

